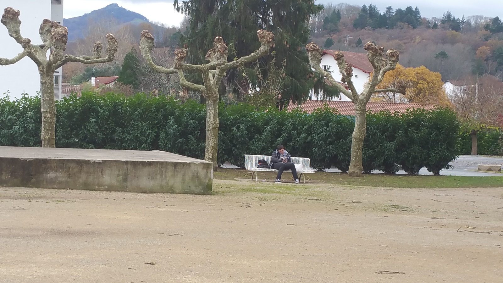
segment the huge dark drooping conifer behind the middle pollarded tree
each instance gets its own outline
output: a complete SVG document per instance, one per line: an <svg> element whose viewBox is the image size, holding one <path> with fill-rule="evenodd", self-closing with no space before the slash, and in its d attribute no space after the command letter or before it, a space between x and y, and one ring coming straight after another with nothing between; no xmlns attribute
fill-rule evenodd
<svg viewBox="0 0 503 283"><path fill-rule="evenodd" d="M256 39L257 30L265 29L276 36L272 52L275 53L277 67L281 67L283 61L286 63L281 99L303 101L308 98L311 89L321 90L323 84L321 80L315 80L316 76L306 63L307 55L303 47L310 35L309 20L322 11L322 5L315 5L314 1L294 0L175 0L174 6L190 19L189 32L182 38L182 43L189 48L188 61L191 63L205 62L206 52L213 47L215 36L226 40L229 60L247 56L260 46ZM256 65L261 66L267 77L264 66L268 66L272 59L272 55L264 56L244 68L249 70ZM225 78L233 85L235 93L238 93L237 85L244 82L239 73L229 70ZM202 83L201 79L195 82Z"/></svg>

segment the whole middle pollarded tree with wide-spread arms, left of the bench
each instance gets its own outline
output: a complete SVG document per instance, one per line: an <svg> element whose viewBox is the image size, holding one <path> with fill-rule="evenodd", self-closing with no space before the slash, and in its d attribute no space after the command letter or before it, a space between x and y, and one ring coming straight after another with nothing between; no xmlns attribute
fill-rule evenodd
<svg viewBox="0 0 503 283"><path fill-rule="evenodd" d="M218 168L218 86L225 76L227 70L256 61L262 56L269 54L273 45L274 34L265 30L257 32L261 46L258 50L248 56L235 58L227 61L227 45L220 36L213 41L213 48L206 53L207 64L194 65L184 63L187 56L187 49L175 50L175 62L172 68L165 68L156 65L151 57L154 48L154 38L147 31L141 32L140 50L141 54L150 67L159 73L175 74L180 76L180 85L184 88L200 92L206 98L206 148L204 160L213 163L213 169ZM188 82L184 76L184 70L194 70L202 74L204 85Z"/></svg>

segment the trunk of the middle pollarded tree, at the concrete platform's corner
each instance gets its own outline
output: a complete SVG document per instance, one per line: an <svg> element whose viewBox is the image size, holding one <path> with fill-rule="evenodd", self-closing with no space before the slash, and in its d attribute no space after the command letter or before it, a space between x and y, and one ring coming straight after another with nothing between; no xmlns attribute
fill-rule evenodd
<svg viewBox="0 0 503 283"><path fill-rule="evenodd" d="M213 163L213 171L218 169L218 90L206 92L206 148L204 160Z"/></svg>

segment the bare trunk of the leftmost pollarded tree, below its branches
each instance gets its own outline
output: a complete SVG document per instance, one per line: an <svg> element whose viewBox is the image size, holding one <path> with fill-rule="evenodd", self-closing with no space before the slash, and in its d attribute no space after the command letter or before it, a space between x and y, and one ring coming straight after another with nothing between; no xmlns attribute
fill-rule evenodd
<svg viewBox="0 0 503 283"><path fill-rule="evenodd" d="M40 95L42 104L42 139L43 148L56 147L56 102L54 101L54 75L44 71L40 73Z"/></svg>

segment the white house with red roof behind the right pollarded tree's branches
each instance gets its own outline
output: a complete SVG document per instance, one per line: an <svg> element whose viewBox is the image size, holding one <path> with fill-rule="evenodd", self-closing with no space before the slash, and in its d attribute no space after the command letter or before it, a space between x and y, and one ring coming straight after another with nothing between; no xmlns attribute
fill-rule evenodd
<svg viewBox="0 0 503 283"><path fill-rule="evenodd" d="M321 67L324 70L331 72L333 79L341 82L342 74L339 72L339 66L336 59L333 58L334 50L323 50L321 53ZM341 51L348 63L353 66L352 82L355 85L358 93L363 91L364 84L369 80L370 74L373 72L372 64L369 62L366 53L355 53ZM316 100L317 97L311 92L311 99ZM347 96L341 93L340 98L332 100L351 101Z"/></svg>

